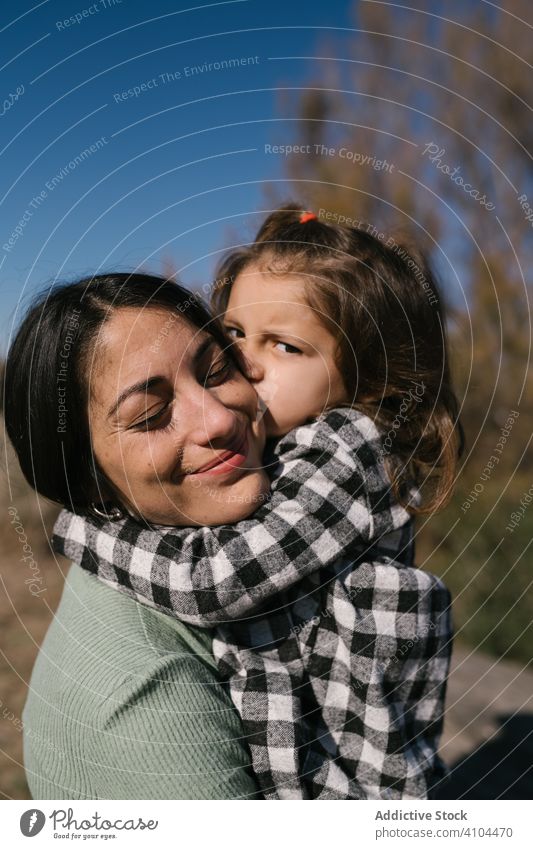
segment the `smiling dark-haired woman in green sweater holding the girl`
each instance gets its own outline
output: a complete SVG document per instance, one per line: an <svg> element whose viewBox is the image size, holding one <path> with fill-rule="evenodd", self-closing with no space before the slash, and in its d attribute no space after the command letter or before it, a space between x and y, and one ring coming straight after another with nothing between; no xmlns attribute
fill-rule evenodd
<svg viewBox="0 0 533 849"><path fill-rule="evenodd" d="M201 525L253 512L269 487L263 428L225 345L190 292L150 275L90 278L40 299L6 365L6 425L27 480L99 516L120 504L148 521ZM170 404L178 423L152 431ZM221 452L238 462L203 477ZM209 633L77 566L35 665L24 745L36 798L257 793Z"/></svg>

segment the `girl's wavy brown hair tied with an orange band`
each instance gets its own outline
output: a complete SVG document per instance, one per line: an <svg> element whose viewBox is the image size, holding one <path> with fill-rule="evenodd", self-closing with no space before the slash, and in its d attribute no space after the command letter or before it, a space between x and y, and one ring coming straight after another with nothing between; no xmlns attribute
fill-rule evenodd
<svg viewBox="0 0 533 849"><path fill-rule="evenodd" d="M304 212L282 206L252 244L223 258L212 307L225 312L237 275L252 266L302 275L309 305L338 339L337 367L351 406L382 433L396 499L413 514L435 512L451 497L464 449L435 276L421 252L393 238ZM413 482L424 492L416 506L409 503Z"/></svg>

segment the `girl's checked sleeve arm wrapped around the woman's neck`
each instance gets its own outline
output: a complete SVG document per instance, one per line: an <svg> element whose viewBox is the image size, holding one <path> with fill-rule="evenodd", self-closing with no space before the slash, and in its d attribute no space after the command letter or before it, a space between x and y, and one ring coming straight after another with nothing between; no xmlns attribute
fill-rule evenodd
<svg viewBox="0 0 533 849"><path fill-rule="evenodd" d="M369 430L370 429L370 430ZM369 434L371 438L369 438ZM150 529L63 510L54 547L138 601L200 627L241 619L350 547L403 525L371 420L338 409L277 447L271 498L234 525Z"/></svg>

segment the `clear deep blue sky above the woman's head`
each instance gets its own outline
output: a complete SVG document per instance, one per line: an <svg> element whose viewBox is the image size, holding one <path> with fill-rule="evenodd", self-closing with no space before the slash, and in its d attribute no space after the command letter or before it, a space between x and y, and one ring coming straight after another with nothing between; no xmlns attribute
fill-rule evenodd
<svg viewBox="0 0 533 849"><path fill-rule="evenodd" d="M3 4L2 349L56 278L172 257L186 285L208 281L284 180L264 146L294 138L279 90L312 60L277 57L353 26L349 0Z"/></svg>

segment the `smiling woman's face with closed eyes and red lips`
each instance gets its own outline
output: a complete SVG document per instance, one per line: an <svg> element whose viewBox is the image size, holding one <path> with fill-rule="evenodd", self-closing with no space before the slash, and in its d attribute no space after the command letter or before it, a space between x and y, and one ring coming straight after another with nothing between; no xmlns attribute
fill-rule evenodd
<svg viewBox="0 0 533 849"><path fill-rule="evenodd" d="M207 332L177 312L120 308L101 328L88 379L93 452L131 512L216 525L265 498L257 395Z"/></svg>

